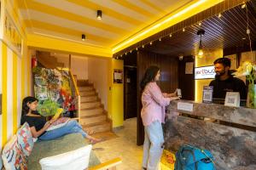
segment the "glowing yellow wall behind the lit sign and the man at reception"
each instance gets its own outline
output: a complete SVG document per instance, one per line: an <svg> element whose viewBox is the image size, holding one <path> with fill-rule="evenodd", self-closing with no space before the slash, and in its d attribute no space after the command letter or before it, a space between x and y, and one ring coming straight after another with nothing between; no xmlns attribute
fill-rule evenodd
<svg viewBox="0 0 256 170"><path fill-rule="evenodd" d="M223 57L223 49L205 53L201 59L198 57L195 58L195 67L213 65L214 60L221 57ZM211 81L212 79L195 80L195 101L202 101L203 87L208 86Z"/></svg>

